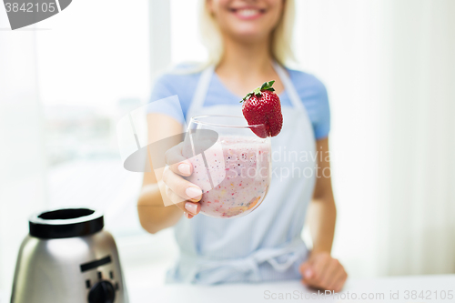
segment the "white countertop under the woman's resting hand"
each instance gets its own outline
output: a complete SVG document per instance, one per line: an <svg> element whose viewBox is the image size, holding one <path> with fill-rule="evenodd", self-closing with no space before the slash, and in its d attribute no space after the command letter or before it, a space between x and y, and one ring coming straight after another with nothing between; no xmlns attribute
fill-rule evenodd
<svg viewBox="0 0 455 303"><path fill-rule="evenodd" d="M349 279L339 297L335 294L326 298L318 298L318 292L305 288L299 281L215 287L167 285L147 289L130 288L128 292L130 303L455 302L455 275ZM394 294L394 297L390 298L390 294Z"/></svg>

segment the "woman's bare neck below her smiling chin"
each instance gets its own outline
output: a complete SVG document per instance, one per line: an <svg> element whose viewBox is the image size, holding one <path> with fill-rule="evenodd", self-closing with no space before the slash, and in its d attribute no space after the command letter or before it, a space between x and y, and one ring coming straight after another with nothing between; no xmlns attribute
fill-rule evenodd
<svg viewBox="0 0 455 303"><path fill-rule="evenodd" d="M224 54L217 66L217 73L255 76L268 73L273 68L268 39L241 43L225 37L223 43Z"/></svg>

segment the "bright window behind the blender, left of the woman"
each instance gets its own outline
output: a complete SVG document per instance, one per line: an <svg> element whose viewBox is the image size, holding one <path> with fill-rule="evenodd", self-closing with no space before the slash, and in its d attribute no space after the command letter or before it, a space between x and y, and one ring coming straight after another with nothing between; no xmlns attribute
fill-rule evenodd
<svg viewBox="0 0 455 303"><path fill-rule="evenodd" d="M102 209L117 234L140 230L142 176L123 169L116 122L147 101L148 26L147 1L75 1L36 33L49 207Z"/></svg>

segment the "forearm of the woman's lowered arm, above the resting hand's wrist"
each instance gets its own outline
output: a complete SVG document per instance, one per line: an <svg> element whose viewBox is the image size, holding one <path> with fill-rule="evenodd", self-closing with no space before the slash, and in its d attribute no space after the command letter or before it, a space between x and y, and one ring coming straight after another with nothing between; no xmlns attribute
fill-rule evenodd
<svg viewBox="0 0 455 303"><path fill-rule="evenodd" d="M335 233L337 208L333 195L314 198L309 207L309 229L313 240L313 252L331 251Z"/></svg>

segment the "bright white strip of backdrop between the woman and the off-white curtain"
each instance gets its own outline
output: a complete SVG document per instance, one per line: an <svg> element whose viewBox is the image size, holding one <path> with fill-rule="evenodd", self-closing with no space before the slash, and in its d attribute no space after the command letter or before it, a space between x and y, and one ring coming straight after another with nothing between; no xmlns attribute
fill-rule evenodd
<svg viewBox="0 0 455 303"><path fill-rule="evenodd" d="M353 277L375 271L383 1L297 1L296 56L329 90L338 221L333 254Z"/></svg>

